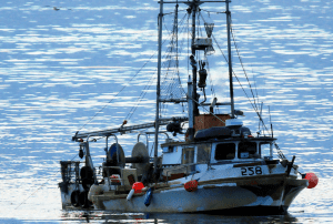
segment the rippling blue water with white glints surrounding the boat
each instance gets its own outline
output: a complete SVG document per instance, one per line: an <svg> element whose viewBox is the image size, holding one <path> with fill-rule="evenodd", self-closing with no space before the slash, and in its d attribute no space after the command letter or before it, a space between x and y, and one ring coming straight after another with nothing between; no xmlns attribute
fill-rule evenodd
<svg viewBox="0 0 333 224"><path fill-rule="evenodd" d="M172 12L173 8L165 6L164 10ZM224 4L205 10L211 11L211 18L205 18L215 23L213 34L226 53L225 17L215 13L224 11ZM8 0L0 6L1 223L330 223L333 3L235 0L231 11L238 49L253 89L256 86L259 102L264 102L266 125L270 106L274 136L285 156L296 155L301 172L314 172L320 177L315 189L304 190L296 197L287 215L147 216L62 211L59 161L77 156L78 145L71 136L78 130L120 126L143 90L147 94L129 124L153 121L157 57L145 62L158 48L159 4L134 0ZM172 16L164 19L170 22ZM168 26L164 37L171 29ZM228 70L219 48L214 49L209 75L222 100L228 98ZM234 71L246 86L236 52L233 53ZM186 82L186 70L183 65L182 83ZM255 113L236 80L234 83L236 109L245 112L245 125L256 132ZM251 95L249 88L245 91ZM171 115L185 115L181 105L169 109ZM121 135L119 141L130 155L135 136ZM91 145L98 164L103 144Z"/></svg>

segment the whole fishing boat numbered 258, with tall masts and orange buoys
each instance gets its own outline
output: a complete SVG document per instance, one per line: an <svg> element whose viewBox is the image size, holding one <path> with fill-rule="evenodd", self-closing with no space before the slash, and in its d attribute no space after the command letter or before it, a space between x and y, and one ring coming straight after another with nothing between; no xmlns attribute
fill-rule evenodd
<svg viewBox="0 0 333 224"><path fill-rule="evenodd" d="M253 134L243 125L243 112L234 109L230 2L159 1L155 119L150 123L128 125L124 121L115 129L77 132L72 140L79 143L82 161L60 162L62 182L59 186L63 208L75 206L119 212L281 214L287 211L302 190L317 184L315 174L300 173L295 156L287 160L283 155L272 125L268 130L259 110L255 112L265 132ZM198 24L198 21L204 11L202 7L208 3L225 4L222 13L226 16L228 102L219 102L216 98L212 98L210 103L205 102L206 78L210 75L206 69L208 55L214 51L215 38L212 34L213 23ZM190 72L185 74L188 90L183 98L176 99L172 95L165 98L165 92L161 90L162 28L167 14L163 12L164 4L175 6L172 12L172 48L178 49L180 7L185 7L183 11L191 21L185 26L190 32L185 34L190 37L186 55ZM203 27L204 34L199 31ZM178 50L172 52L175 52L178 59ZM179 68L178 62L174 64ZM188 113L185 116L162 118L162 103L186 104ZM220 113L216 110L219 106L226 108L228 112ZM133 145L132 155L125 156L117 136L135 132L138 141ZM140 135L154 136L153 156L149 154L149 140L140 142ZM165 136L162 139L161 135ZM181 141L175 136L182 136ZM102 149L105 156L100 166L94 166L90 144L98 138L105 141L105 147Z"/></svg>

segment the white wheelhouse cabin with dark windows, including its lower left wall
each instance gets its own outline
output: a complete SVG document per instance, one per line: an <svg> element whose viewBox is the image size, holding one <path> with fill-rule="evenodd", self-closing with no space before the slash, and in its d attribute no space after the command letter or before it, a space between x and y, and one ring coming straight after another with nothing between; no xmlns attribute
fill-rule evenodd
<svg viewBox="0 0 333 224"><path fill-rule="evenodd" d="M271 160L273 138L230 138L200 142L162 144L163 179L175 180L195 173L205 165L234 164Z"/></svg>

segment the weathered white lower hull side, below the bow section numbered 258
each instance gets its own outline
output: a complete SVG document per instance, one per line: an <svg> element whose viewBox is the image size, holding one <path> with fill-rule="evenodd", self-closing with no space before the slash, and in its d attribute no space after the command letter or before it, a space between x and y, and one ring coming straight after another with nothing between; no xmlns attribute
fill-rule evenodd
<svg viewBox="0 0 333 224"><path fill-rule="evenodd" d="M293 185L266 185L266 186L200 186L195 192L188 192L183 187L157 190L153 192L149 206L144 205L144 194L135 195L128 201L127 195L114 195L111 192L94 195L94 206L98 210L121 212L162 212L186 213L229 211L235 208L264 206L283 213L287 210L293 198L306 186L306 181L291 180ZM296 183L297 182L297 183ZM118 198L114 198L118 197ZM265 211L259 211L263 213ZM270 211L266 211L271 213ZM275 213L275 212L274 212Z"/></svg>

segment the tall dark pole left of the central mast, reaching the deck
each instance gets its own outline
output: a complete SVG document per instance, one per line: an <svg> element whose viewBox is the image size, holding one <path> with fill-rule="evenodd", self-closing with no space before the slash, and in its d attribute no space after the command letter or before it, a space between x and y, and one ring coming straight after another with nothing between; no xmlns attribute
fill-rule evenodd
<svg viewBox="0 0 333 224"><path fill-rule="evenodd" d="M162 55L162 18L163 0L160 0L159 14L159 57L158 57L158 84L157 84L157 114L155 114L155 145L154 145L154 175L158 173L158 152L159 152L159 116L160 116L160 82L161 82L161 55Z"/></svg>

